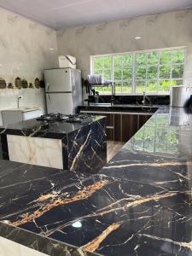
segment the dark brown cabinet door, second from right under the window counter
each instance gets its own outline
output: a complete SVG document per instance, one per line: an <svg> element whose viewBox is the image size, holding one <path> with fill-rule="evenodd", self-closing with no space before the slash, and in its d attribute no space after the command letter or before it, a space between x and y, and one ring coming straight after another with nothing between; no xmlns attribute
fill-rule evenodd
<svg viewBox="0 0 192 256"><path fill-rule="evenodd" d="M122 141L127 142L138 130L137 114L122 114Z"/></svg>

